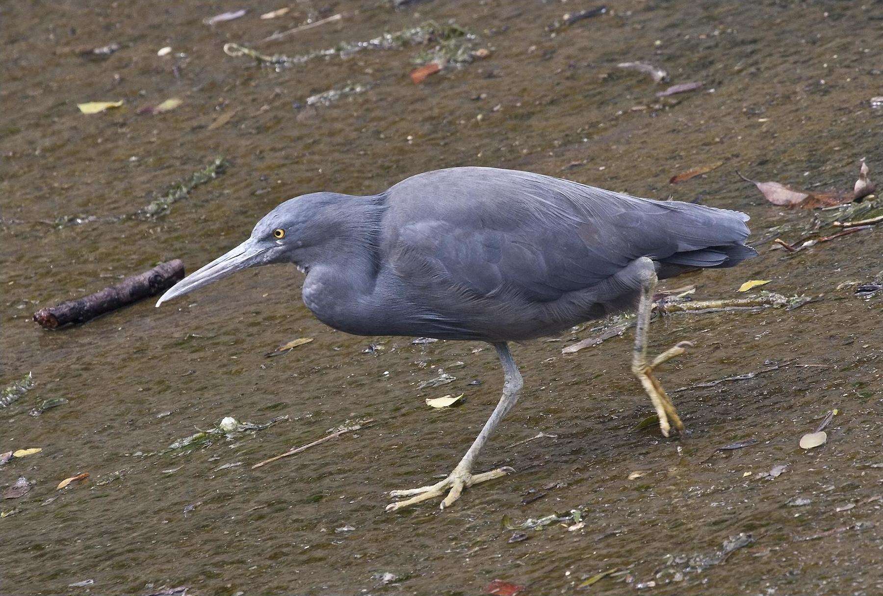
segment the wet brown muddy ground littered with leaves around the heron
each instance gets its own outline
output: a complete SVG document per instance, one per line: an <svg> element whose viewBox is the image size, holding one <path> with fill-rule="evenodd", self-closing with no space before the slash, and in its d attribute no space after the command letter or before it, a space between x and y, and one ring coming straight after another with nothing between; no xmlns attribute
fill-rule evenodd
<svg viewBox="0 0 883 596"><path fill-rule="evenodd" d="M769 205L735 175L851 189L867 158L883 177L883 110L870 101L883 94L883 5L626 1L553 31L565 12L594 4L436 0L396 11L304 0L259 18L284 5L248 3L245 17L215 26L203 19L240 4L0 8L0 381L31 371L35 383L0 408L0 451L42 448L0 467L4 490L19 476L33 483L0 501L0 592L479 594L494 579L528 594L883 592L883 293L856 294L883 268L883 229L794 255L772 250L777 235L803 235L812 213ZM336 13L343 19L250 44ZM454 19L490 55L415 85L419 45L279 69L223 52L237 42L295 56L426 19ZM80 54L111 43L120 47L109 56ZM170 54L157 56L165 46ZM660 64L671 80L615 68L632 60ZM692 81L703 88L655 97ZM348 83L370 89L306 105ZM171 97L183 104L138 113ZM118 100L123 107L97 115L77 108ZM218 156L227 172L167 214L116 217ZM449 510L432 502L389 514L384 493L448 473L499 398L487 346L332 331L300 301L302 277L283 266L57 332L30 319L170 258L193 271L285 198L374 193L460 165L750 213L760 257L669 287L695 282L697 298L734 297L743 281L770 279L771 291L816 300L667 317L653 324L654 351L681 339L696 348L660 378L675 390L787 366L673 391L689 432L664 439L653 426L635 430L652 409L630 376L630 332L570 356L562 346L592 325L515 346L526 389L479 469L517 473L468 490ZM264 356L300 337L313 342ZM418 390L439 368L457 380ZM456 409L424 402L459 393ZM53 398L69 401L28 415ZM833 409L827 443L798 447ZM288 419L167 451L225 416ZM251 469L358 418L374 423ZM539 433L549 436L526 441ZM787 467L774 477L775 466ZM502 523L555 513L570 518L540 529ZM617 571L578 587L608 570Z"/></svg>

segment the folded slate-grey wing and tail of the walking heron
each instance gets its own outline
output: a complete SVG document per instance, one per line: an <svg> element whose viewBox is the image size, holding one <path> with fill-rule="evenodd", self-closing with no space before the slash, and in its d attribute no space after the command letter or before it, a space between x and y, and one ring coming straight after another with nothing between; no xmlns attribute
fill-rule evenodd
<svg viewBox="0 0 883 596"><path fill-rule="evenodd" d="M388 190L385 242L404 275L475 297L548 302L638 257L725 266L753 251L743 213L629 197L544 175L450 168Z"/></svg>

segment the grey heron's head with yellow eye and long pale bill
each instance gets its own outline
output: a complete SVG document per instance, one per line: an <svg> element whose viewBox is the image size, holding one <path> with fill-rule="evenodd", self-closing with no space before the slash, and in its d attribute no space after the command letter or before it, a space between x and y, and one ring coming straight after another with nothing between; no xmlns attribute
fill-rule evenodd
<svg viewBox="0 0 883 596"><path fill-rule="evenodd" d="M294 263L300 271L308 271L315 253L333 235L334 205L340 197L343 195L316 192L278 205L260 219L248 240L178 281L156 306L246 267Z"/></svg>

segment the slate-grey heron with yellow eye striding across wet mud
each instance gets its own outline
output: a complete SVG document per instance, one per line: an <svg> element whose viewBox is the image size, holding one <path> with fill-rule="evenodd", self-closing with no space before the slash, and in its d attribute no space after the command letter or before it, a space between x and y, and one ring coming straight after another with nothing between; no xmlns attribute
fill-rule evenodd
<svg viewBox="0 0 883 596"><path fill-rule="evenodd" d="M245 267L293 263L306 273L306 307L335 329L492 344L504 376L494 413L447 478L394 490L392 497L410 498L387 507L447 491L444 509L464 488L511 471L472 473L522 388L509 341L637 308L631 370L653 402L662 434L682 430L653 369L691 344L648 358L653 289L657 279L755 256L744 244L747 220L741 212L528 172L442 169L373 196L316 192L285 201L248 240L179 281L156 305Z"/></svg>

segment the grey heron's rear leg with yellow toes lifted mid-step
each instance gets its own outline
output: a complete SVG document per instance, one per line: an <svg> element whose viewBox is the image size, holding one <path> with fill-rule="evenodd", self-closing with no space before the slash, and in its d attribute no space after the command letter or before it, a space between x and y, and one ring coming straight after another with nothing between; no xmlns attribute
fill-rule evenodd
<svg viewBox="0 0 883 596"><path fill-rule="evenodd" d="M675 428L678 432L683 431L683 422L677 415L675 406L668 399L668 395L662 385L653 375L653 369L656 369L662 362L669 361L675 356L679 356L687 351L688 347L693 345L689 341L682 341L676 346L669 347L668 350L653 358L653 361L647 361L647 332L650 327L650 316L653 310L653 291L656 288L656 271L653 268L653 261L646 260L646 267L643 273L641 284L641 299L638 304L638 321L635 326L635 347L631 354L631 372L638 377L638 381L644 386L644 391L650 396L653 402L653 408L660 419L660 430L662 435L668 436L670 429Z"/></svg>

